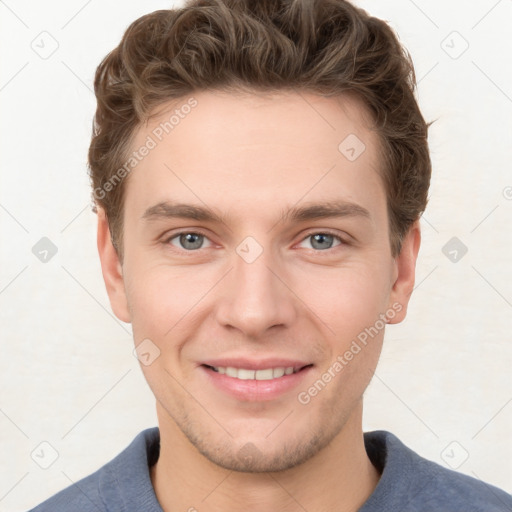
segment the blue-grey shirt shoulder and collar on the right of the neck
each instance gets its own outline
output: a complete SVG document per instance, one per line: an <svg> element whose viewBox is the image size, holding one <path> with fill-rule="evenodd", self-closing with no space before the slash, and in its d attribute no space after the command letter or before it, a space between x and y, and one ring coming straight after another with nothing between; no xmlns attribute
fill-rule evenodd
<svg viewBox="0 0 512 512"><path fill-rule="evenodd" d="M365 447L382 475L361 512L375 506L409 512L512 511L512 495L421 457L390 432L365 433Z"/></svg>

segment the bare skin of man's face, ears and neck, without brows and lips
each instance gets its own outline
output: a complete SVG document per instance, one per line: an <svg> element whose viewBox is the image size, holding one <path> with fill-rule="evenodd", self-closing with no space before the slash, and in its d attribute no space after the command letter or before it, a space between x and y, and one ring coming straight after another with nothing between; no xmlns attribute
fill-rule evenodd
<svg viewBox="0 0 512 512"><path fill-rule="evenodd" d="M197 106L127 178L122 264L98 214L113 311L132 323L136 345L149 338L160 350L141 365L160 427L150 473L156 496L165 511L355 511L380 476L364 448L362 398L384 329L308 404L297 395L393 304L401 311L388 323L405 318L419 222L393 258L379 140L356 99L283 91L193 96ZM160 107L133 148L186 99L164 113ZM349 134L366 146L354 161L338 150ZM369 218L282 218L292 206L340 199L363 206ZM142 219L165 200L207 205L224 222ZM202 246L180 245L176 233L195 230L206 235ZM314 245L312 235L326 230L335 236ZM247 236L263 249L252 263L236 252ZM240 355L314 366L297 389L249 402L208 385L199 367ZM247 447L253 456L240 457Z"/></svg>

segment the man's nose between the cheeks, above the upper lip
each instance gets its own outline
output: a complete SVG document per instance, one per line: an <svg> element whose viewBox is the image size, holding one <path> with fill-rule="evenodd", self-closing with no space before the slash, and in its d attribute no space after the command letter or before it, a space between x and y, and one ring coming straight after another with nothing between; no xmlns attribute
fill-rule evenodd
<svg viewBox="0 0 512 512"><path fill-rule="evenodd" d="M233 255L233 268L219 290L217 321L257 339L272 327L290 327L298 299L271 251L263 250L250 261L238 253Z"/></svg>

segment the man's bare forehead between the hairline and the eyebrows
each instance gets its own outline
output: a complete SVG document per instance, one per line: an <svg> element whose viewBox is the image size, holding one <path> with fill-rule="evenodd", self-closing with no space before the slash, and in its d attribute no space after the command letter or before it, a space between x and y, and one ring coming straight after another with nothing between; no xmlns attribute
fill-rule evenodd
<svg viewBox="0 0 512 512"><path fill-rule="evenodd" d="M158 107L132 150L126 203L140 215L179 198L245 208L344 198L384 206L379 140L355 98L201 91Z"/></svg>

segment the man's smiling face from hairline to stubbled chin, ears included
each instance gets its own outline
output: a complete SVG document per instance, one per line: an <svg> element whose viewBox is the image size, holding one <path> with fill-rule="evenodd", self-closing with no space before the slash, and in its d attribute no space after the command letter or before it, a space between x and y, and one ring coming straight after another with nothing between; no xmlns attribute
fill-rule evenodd
<svg viewBox="0 0 512 512"><path fill-rule="evenodd" d="M127 178L122 267L100 218L103 273L160 427L222 467L278 471L356 421L419 231L393 258L379 141L354 98L193 98L138 131L133 150L155 144Z"/></svg>

